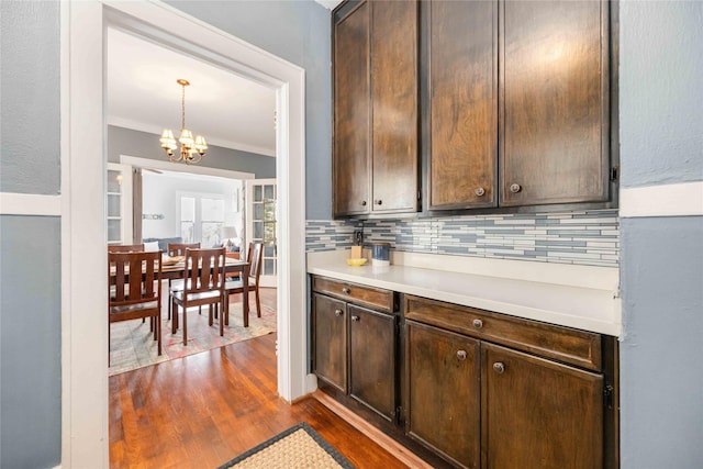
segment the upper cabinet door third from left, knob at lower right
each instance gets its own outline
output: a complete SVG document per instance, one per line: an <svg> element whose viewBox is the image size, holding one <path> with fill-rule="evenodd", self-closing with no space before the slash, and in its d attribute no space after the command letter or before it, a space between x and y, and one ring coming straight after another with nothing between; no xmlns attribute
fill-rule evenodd
<svg viewBox="0 0 703 469"><path fill-rule="evenodd" d="M429 210L495 206L498 3L427 3Z"/></svg>

